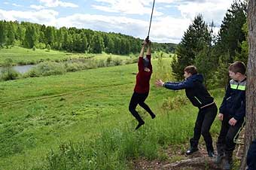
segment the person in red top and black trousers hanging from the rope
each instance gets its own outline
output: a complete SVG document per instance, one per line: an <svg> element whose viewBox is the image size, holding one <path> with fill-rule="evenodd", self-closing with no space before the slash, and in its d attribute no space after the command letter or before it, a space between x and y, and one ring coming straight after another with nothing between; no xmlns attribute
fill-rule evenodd
<svg viewBox="0 0 256 170"><path fill-rule="evenodd" d="M146 57L143 57L145 47L148 46ZM142 120L142 117L139 116L136 107L139 104L145 111L148 111L148 114L151 115L151 118L154 119L155 114L151 111L151 108L145 104L145 100L148 97L149 93L149 81L152 74L152 65L151 65L151 41L146 40L142 44L142 50L139 54L138 61L139 72L136 75L136 86L134 87L133 96L130 100L129 111L133 114L133 117L138 120L139 124L136 126L136 129L139 129L145 122Z"/></svg>

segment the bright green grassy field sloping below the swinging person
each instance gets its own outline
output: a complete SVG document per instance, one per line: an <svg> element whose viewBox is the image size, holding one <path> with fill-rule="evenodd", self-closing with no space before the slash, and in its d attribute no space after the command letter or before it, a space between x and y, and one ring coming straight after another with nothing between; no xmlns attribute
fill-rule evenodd
<svg viewBox="0 0 256 170"><path fill-rule="evenodd" d="M0 82L0 169L129 169L131 159L164 159L160 148L186 143L197 114L184 91L154 87L172 79L170 62L153 61L147 102L157 117L139 108L138 132L128 111L136 64ZM219 104L223 93L212 94Z"/></svg>

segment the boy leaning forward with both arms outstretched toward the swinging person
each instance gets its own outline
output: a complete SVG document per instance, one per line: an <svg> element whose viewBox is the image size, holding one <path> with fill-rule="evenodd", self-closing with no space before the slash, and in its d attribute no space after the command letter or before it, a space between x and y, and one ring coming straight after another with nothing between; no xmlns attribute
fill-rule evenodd
<svg viewBox="0 0 256 170"><path fill-rule="evenodd" d="M198 141L201 134L206 141L206 149L210 157L214 156L212 146L212 136L209 132L217 114L217 106L203 85L203 75L197 74L197 68L194 65L184 68L185 80L181 82L166 82L157 80L157 87L165 87L169 90L185 90L187 98L194 106L199 108L197 121L194 127L194 137L190 138L190 149L186 154L190 155L198 150Z"/></svg>

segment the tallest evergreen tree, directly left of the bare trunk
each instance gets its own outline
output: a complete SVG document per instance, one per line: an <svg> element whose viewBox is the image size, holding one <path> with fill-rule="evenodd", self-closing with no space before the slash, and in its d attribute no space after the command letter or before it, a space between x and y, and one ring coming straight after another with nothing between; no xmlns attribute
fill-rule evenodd
<svg viewBox="0 0 256 170"><path fill-rule="evenodd" d="M218 32L218 41L215 45L215 54L219 58L218 71L215 73L218 79L215 81L223 86L228 82L228 65L234 61L235 57L242 59L246 55L245 51L242 52L242 46L246 50L245 42L242 43L246 41L245 32L242 31L246 22L246 6L246 2L234 1L230 9L227 10Z"/></svg>

